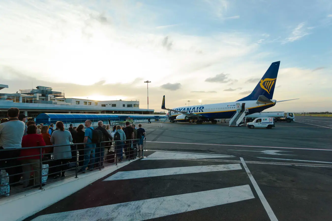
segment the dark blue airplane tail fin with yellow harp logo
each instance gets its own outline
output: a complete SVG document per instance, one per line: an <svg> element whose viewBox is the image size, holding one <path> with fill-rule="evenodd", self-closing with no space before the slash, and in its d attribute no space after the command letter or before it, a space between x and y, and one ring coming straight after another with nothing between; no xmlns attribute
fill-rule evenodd
<svg viewBox="0 0 332 221"><path fill-rule="evenodd" d="M269 69L265 72L263 78L258 82L255 89L251 92L251 94L237 101L257 100L261 95L271 100L277 82L279 65L280 61L273 62L270 65Z"/></svg>

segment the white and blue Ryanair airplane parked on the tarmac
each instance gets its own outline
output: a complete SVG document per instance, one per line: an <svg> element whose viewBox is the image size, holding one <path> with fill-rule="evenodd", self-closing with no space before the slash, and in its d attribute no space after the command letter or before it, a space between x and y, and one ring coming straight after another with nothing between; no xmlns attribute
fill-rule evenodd
<svg viewBox="0 0 332 221"><path fill-rule="evenodd" d="M280 61L273 62L251 94L237 101L167 109L165 107L164 95L161 109L168 110L168 119L172 123L194 121L196 121L196 123L203 123L203 121L211 121L212 123L216 123L217 121L215 119L231 118L235 114L237 108L241 108L242 111L245 108L248 108L248 114L261 112L267 108L273 107L277 102L289 101L272 100L274 88L277 82L279 65Z"/></svg>

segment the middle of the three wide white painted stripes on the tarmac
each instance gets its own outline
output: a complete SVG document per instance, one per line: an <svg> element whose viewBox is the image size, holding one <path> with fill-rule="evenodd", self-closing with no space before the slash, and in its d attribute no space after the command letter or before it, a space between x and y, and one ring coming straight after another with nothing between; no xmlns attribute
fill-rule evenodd
<svg viewBox="0 0 332 221"><path fill-rule="evenodd" d="M161 168L161 169L150 169L150 170L132 170L118 172L104 181L111 180L127 180L144 177L158 177L167 175L179 175L189 173L203 173L213 171L225 171L225 170L241 170L240 164L221 164L221 165L208 165L208 166L192 166L192 167L174 167L174 168Z"/></svg>

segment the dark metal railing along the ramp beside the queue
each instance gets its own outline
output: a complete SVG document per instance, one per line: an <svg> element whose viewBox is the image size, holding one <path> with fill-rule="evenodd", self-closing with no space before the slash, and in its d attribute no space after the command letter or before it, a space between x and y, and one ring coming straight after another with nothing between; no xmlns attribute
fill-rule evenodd
<svg viewBox="0 0 332 221"><path fill-rule="evenodd" d="M55 148L63 146L70 147L70 150L68 148L65 151L54 151ZM0 149L0 197L32 188L42 190L46 183L53 183L64 177L75 176L75 178L78 178L79 174L87 171L101 170L104 168L104 163L105 166L118 165L119 159L122 161L124 156L125 160L128 161L136 157L143 158L143 148L145 151L145 137L143 139L102 141L100 143L72 143ZM53 150L48 152L47 150L50 149ZM33 151L34 155L27 154L26 151L29 150ZM71 157L68 156L69 153ZM67 156L64 159L59 159L59 154L67 154ZM4 158L4 156L10 157ZM68 175L67 172L65 176L66 171L71 173ZM54 179L51 180L51 177L54 177Z"/></svg>

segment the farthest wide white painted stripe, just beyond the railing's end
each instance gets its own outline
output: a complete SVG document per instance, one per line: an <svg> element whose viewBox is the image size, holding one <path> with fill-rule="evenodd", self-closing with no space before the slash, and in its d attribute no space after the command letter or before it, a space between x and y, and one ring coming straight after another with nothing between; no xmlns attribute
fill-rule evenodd
<svg viewBox="0 0 332 221"><path fill-rule="evenodd" d="M197 153L178 153L178 152L161 152L156 151L146 158L142 160L164 160L163 158L159 157L175 157L175 158L197 158L197 159L204 159L204 158L224 158L224 157L235 157L232 155L209 155L209 154L197 154Z"/></svg>

